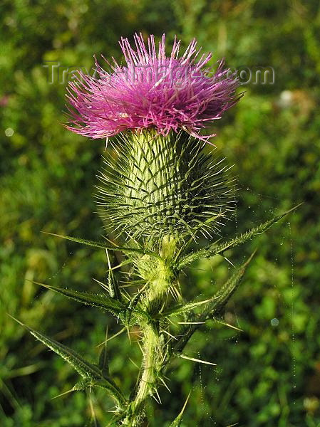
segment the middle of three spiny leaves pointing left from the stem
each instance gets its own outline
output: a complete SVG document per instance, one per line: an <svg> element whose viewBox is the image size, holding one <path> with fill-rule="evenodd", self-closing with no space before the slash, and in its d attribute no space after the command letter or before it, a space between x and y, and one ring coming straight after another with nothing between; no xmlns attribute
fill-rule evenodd
<svg viewBox="0 0 320 427"><path fill-rule="evenodd" d="M73 300L76 300L78 302L83 302L83 304L88 304L88 305L92 305L93 307L103 308L103 310L112 312L113 315L119 315L121 310L125 309L125 305L123 305L118 300L113 300L113 298L108 297L105 294L94 294L92 292L80 292L78 290L57 288L56 286L46 285L44 283L39 283L39 282L33 282L33 283L36 283L36 285L43 286L43 288L53 290L53 292L57 292L68 298L72 298Z"/></svg>

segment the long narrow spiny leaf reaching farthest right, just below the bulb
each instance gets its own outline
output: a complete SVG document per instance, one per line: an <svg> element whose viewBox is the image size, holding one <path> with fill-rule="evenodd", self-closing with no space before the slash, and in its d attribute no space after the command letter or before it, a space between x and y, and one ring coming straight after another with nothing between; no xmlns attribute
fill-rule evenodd
<svg viewBox="0 0 320 427"><path fill-rule="evenodd" d="M224 253L224 251L227 251L228 249L234 248L235 246L238 246L248 241L252 237L257 236L257 234L264 233L264 231L267 231L267 229L270 228L274 223L282 219L284 216L288 215L290 212L297 209L299 206L301 206L301 204L294 206L293 208L289 209L289 211L284 212L284 214L274 216L274 218L269 219L269 221L266 221L257 227L251 228L249 231L242 234L241 236L220 243L220 245L213 244L206 246L205 248L200 249L200 251L196 251L190 253L189 255L186 255L184 258L182 258L182 260L180 260L180 263L178 263L177 268L183 268L185 267L185 265L190 264L192 263L192 261L198 260L200 258L209 258L211 256Z"/></svg>

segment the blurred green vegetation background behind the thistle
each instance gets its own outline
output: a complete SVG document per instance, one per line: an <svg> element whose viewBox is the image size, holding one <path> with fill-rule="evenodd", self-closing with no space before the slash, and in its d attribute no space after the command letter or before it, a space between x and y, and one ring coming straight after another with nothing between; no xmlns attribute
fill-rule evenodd
<svg viewBox="0 0 320 427"><path fill-rule="evenodd" d="M173 363L172 394L161 390L150 426L167 426L190 390L185 427L320 426L319 1L4 0L0 10L1 427L108 425L113 404L103 393L51 400L76 374L6 312L92 360L105 327L120 329L30 280L98 290L93 278L103 280L106 268L103 251L41 233L103 233L92 194L104 150L103 141L63 128L66 83L56 76L49 84L43 64L89 70L94 53L120 58L118 39L135 31L165 32L168 41L176 33L184 46L196 37L234 68L274 68L274 85L242 86L239 105L215 125L218 154L234 164L240 186L223 234L305 202L229 254L239 264L259 249L224 314L244 332L214 324L197 332L186 352L217 367ZM186 296L211 295L230 273L222 258L198 267ZM138 346L122 335L109 348L110 369L129 391L138 371L128 358L140 361Z"/></svg>

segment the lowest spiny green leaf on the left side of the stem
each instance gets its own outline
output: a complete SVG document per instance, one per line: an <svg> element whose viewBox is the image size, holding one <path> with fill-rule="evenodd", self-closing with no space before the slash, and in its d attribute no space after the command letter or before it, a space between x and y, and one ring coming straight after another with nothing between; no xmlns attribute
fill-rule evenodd
<svg viewBox="0 0 320 427"><path fill-rule="evenodd" d="M41 334L41 332L37 332L33 330L31 327L24 325L24 323L20 322L20 320L15 317L9 315L12 319L18 322L21 326L26 328L33 337L36 337L39 341L46 345L53 352L58 354L62 359L66 360L68 364L70 364L73 369L76 369L78 374L80 374L85 381L91 381L91 386L101 386L105 389L108 389L109 393L113 396L113 398L118 402L119 405L125 404L125 398L123 394L118 389L118 386L115 385L112 379L106 378L103 376L100 369L90 362L87 362L86 359L80 356L73 349L66 347L66 345L61 344L60 342L47 337L45 334Z"/></svg>

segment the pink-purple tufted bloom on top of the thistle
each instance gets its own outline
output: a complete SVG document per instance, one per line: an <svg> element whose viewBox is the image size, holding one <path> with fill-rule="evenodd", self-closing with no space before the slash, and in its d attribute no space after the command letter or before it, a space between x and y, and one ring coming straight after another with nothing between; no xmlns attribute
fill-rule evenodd
<svg viewBox="0 0 320 427"><path fill-rule="evenodd" d="M79 71L68 85L70 120L68 129L91 138L112 137L125 130L154 128L158 134L183 129L201 137L202 128L220 119L241 95L239 81L223 60L210 73L206 69L211 53L200 56L192 40L179 57L180 41L175 41L170 56L165 56L165 35L155 47L155 38L135 34L135 50L127 38L120 46L126 65L106 63L105 71L96 62L98 78Z"/></svg>

